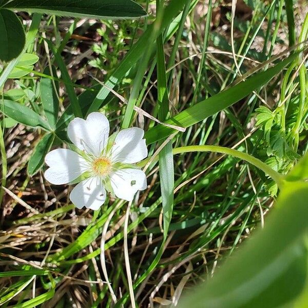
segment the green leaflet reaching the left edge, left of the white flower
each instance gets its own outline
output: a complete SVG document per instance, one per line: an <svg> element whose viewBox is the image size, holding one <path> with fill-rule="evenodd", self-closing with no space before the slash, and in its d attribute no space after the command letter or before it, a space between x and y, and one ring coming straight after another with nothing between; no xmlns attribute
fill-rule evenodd
<svg viewBox="0 0 308 308"><path fill-rule="evenodd" d="M9 100L0 102L0 110L9 118L14 119L18 123L29 125L32 127L41 126L46 130L50 130L48 123L29 107Z"/></svg>

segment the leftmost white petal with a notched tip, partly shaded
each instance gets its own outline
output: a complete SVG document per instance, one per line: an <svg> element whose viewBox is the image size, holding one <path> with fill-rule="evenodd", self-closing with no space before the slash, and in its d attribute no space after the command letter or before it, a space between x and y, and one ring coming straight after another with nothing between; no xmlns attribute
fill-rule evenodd
<svg viewBox="0 0 308 308"><path fill-rule="evenodd" d="M55 149L45 157L50 167L45 171L45 179L51 184L67 184L83 174L88 168L87 161L68 149Z"/></svg>

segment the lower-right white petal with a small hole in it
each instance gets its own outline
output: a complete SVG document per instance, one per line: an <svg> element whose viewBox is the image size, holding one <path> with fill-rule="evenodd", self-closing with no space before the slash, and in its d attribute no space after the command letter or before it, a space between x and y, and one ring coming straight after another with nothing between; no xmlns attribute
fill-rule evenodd
<svg viewBox="0 0 308 308"><path fill-rule="evenodd" d="M139 169L121 169L110 175L111 187L115 196L120 199L132 201L138 190L147 187L146 176Z"/></svg>

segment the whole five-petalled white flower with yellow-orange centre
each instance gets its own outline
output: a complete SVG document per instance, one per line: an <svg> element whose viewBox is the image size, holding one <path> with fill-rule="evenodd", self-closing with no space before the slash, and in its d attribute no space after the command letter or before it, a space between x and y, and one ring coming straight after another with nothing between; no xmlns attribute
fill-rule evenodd
<svg viewBox="0 0 308 308"><path fill-rule="evenodd" d="M146 176L135 163L147 157L141 128L131 127L112 134L109 122L100 112L86 120L75 118L67 127L75 151L55 149L46 155L50 167L45 178L51 184L76 183L69 196L76 207L99 209L106 189L118 198L132 201L138 190L147 187Z"/></svg>

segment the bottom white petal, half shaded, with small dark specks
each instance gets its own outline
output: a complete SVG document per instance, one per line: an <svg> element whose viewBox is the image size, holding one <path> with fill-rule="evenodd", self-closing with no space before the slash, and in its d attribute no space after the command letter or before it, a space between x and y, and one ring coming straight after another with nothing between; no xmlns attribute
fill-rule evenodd
<svg viewBox="0 0 308 308"><path fill-rule="evenodd" d="M78 207L99 209L106 200L106 190L99 178L90 178L77 184L69 195L69 199Z"/></svg>

